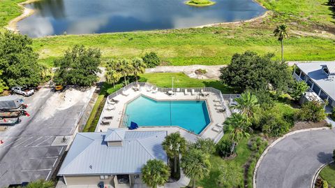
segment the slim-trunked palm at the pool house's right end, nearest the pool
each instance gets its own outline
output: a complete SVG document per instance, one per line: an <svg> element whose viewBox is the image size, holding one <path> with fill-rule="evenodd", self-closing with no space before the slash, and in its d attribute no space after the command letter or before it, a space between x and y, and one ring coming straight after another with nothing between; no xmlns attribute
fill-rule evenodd
<svg viewBox="0 0 335 188"><path fill-rule="evenodd" d="M174 157L174 173L177 173L177 159L179 154L186 151L186 140L179 132L170 133L162 143L163 149L170 158Z"/></svg>

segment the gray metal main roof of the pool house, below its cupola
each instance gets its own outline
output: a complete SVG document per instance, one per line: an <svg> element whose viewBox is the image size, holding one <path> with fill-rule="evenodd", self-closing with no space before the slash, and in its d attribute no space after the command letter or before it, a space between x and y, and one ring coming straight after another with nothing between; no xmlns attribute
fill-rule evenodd
<svg viewBox="0 0 335 188"><path fill-rule="evenodd" d="M107 133L77 133L59 175L140 173L149 159L167 163L161 143L166 131L124 130L121 147L108 147Z"/></svg>

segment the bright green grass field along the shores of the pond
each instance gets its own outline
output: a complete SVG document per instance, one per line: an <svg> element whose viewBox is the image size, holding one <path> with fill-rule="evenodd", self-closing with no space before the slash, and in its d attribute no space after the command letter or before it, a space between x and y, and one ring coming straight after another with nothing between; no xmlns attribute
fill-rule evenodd
<svg viewBox="0 0 335 188"><path fill-rule="evenodd" d="M20 15L15 4L23 0L0 0L0 27ZM295 31L334 28L334 13L327 0L259 0L272 10L272 15L260 22L226 24L203 29L170 29L136 31L116 34L50 36L34 39L34 49L40 63L53 66L53 60L75 44L100 48L104 60L141 57L145 52L157 52L164 64L229 64L236 52L253 50L260 54L272 52L280 57L280 43L272 31L277 24L289 24ZM334 60L334 39L291 34L284 42L286 60Z"/></svg>

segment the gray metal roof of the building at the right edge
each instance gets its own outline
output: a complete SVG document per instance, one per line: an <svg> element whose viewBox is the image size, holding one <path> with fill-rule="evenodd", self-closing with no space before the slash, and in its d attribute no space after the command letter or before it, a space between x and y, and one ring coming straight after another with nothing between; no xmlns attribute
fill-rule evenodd
<svg viewBox="0 0 335 188"><path fill-rule="evenodd" d="M323 91L327 93L332 99L335 100L335 78L334 76L328 76L322 72L322 66L327 68L333 68L335 62L313 62L313 63L298 63L297 66L303 71L309 78L313 80ZM332 70L332 69L331 69ZM330 71L329 70L329 73Z"/></svg>

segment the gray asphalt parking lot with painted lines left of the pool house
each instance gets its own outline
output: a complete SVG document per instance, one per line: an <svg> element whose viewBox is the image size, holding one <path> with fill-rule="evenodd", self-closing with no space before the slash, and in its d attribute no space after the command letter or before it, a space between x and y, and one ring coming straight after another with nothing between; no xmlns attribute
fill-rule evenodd
<svg viewBox="0 0 335 188"><path fill-rule="evenodd" d="M0 187L50 179L68 144L55 145L54 140L75 133L93 91L67 89L54 93L40 89L24 98L30 116L21 117L20 124L0 132Z"/></svg>

